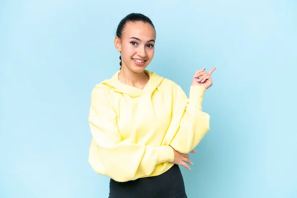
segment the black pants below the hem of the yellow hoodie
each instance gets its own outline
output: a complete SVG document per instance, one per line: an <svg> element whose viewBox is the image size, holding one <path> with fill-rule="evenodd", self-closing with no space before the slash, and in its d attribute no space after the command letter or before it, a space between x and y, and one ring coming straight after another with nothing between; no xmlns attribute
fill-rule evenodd
<svg viewBox="0 0 297 198"><path fill-rule="evenodd" d="M110 179L108 198L187 198L180 168L174 164L165 173L134 181Z"/></svg>

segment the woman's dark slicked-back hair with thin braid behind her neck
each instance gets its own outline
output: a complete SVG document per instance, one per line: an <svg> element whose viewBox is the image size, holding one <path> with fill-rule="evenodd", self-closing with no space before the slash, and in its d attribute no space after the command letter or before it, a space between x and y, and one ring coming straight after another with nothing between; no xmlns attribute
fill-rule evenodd
<svg viewBox="0 0 297 198"><path fill-rule="evenodd" d="M145 16L145 15L143 15L141 13L131 13L131 14L128 14L127 16L125 16L120 21L120 23L119 23L119 25L118 25L118 27L116 29L116 36L118 38L122 38L124 29L125 29L126 24L128 22L139 22L139 21L144 22L144 23L148 23L153 28L155 28L154 25L152 24L151 20L147 16ZM121 69L122 68L122 58L121 58L121 56L120 56L120 60L121 60L120 61L120 66L121 66L120 69Z"/></svg>

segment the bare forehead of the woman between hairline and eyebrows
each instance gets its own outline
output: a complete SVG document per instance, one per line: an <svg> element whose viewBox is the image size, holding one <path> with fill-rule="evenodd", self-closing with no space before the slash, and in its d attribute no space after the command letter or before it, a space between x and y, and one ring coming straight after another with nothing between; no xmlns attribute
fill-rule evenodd
<svg viewBox="0 0 297 198"><path fill-rule="evenodd" d="M156 38L154 28L144 22L128 22L123 32L124 38L137 37L141 40L151 40Z"/></svg>

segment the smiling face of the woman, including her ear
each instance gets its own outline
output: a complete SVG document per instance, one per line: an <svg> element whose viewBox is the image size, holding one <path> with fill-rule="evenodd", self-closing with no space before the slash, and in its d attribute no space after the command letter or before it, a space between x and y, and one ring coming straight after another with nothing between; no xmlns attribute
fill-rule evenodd
<svg viewBox="0 0 297 198"><path fill-rule="evenodd" d="M115 38L115 47L121 52L122 67L135 73L143 72L154 54L155 29L148 23L129 22L122 38Z"/></svg>

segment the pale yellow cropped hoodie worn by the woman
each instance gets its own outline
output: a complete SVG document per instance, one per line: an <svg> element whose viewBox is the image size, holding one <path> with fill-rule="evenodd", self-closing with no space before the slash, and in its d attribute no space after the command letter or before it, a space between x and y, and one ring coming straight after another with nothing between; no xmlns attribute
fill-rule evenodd
<svg viewBox="0 0 297 198"><path fill-rule="evenodd" d="M91 94L89 163L119 182L164 173L173 166L172 148L188 153L209 130L205 88L191 86L188 99L173 81L145 72L143 90L122 84L117 71Z"/></svg>

